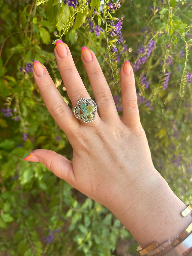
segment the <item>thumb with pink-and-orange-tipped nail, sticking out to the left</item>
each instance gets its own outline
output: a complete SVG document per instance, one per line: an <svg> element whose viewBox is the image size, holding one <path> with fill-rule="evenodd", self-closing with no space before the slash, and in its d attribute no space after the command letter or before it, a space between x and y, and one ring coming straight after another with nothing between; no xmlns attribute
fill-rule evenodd
<svg viewBox="0 0 192 256"><path fill-rule="evenodd" d="M36 149L31 151L24 160L42 163L59 178L66 180L70 185L74 186L75 177L72 162L55 151Z"/></svg>

